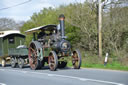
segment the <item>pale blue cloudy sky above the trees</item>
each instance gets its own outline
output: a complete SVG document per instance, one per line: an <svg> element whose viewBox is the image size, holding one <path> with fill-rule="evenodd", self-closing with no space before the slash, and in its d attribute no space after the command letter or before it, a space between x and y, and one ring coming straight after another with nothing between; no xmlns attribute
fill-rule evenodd
<svg viewBox="0 0 128 85"><path fill-rule="evenodd" d="M76 2L83 3L84 1L85 0L0 0L0 9L11 7L9 9L0 10L0 18L12 18L16 21L27 21L33 13L39 12L43 8L56 8L60 5L68 5ZM24 2L27 3L15 6Z"/></svg>

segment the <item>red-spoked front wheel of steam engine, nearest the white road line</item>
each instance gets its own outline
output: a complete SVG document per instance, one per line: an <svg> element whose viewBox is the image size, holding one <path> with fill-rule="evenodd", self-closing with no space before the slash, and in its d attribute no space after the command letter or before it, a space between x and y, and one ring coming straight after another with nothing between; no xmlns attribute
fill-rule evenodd
<svg viewBox="0 0 128 85"><path fill-rule="evenodd" d="M48 64L51 71L55 71L58 66L58 58L54 51L51 51L48 57Z"/></svg>

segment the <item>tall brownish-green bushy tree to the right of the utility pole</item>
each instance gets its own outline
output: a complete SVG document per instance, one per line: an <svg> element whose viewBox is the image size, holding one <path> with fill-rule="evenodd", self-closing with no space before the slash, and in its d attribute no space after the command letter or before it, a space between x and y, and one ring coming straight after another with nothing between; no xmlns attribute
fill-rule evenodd
<svg viewBox="0 0 128 85"><path fill-rule="evenodd" d="M127 39L128 39L128 7L120 5L111 6L109 12L104 13L103 21L103 48L104 51L109 51L115 56L125 56L127 54ZM125 47L125 49L124 49Z"/></svg>

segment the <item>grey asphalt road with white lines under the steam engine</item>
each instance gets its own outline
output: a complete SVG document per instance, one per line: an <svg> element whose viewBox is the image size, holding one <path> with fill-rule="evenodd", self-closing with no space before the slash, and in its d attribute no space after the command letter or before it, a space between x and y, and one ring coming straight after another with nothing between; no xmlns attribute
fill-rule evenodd
<svg viewBox="0 0 128 85"><path fill-rule="evenodd" d="M1 67L0 85L128 85L128 72L102 69L31 70Z"/></svg>

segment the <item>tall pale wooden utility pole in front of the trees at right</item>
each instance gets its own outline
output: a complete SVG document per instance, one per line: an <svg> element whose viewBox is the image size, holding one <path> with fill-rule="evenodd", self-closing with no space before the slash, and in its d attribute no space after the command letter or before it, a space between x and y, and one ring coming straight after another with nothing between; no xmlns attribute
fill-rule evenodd
<svg viewBox="0 0 128 85"><path fill-rule="evenodd" d="M102 6L101 0L98 0L98 40L99 40L99 58L102 57Z"/></svg>

